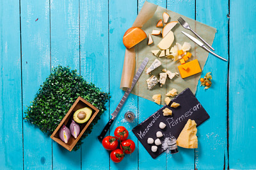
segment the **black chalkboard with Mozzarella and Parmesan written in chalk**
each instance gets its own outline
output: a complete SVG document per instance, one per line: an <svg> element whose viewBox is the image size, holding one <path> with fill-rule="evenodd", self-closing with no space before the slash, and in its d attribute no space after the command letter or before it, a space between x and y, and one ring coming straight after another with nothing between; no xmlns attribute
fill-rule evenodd
<svg viewBox="0 0 256 170"><path fill-rule="evenodd" d="M173 102L180 104L180 106L177 108L170 107ZM172 116L163 116L163 109L166 107L173 111ZM151 146L155 144L148 144L148 137L152 137L155 140L157 139L156 132L161 131L163 133L163 137L160 138L161 142L164 141L165 137L174 136L177 139L189 119L195 120L197 126L199 126L209 118L210 116L207 114L204 107L198 102L192 91L187 88L177 95L177 97L173 98L169 105L164 105L149 118L134 127L132 132L136 135L141 144L143 144L151 157L156 158L161 155L164 150L160 145L157 147L156 152L152 152ZM159 128L160 122L166 124L164 129Z"/></svg>

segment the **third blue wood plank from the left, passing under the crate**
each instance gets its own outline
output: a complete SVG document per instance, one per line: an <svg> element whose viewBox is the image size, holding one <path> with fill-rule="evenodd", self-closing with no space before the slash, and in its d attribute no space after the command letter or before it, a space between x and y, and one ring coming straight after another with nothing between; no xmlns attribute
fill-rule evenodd
<svg viewBox="0 0 256 170"><path fill-rule="evenodd" d="M51 1L51 64L79 72L79 1ZM68 151L53 141L53 169L81 169L81 149Z"/></svg>

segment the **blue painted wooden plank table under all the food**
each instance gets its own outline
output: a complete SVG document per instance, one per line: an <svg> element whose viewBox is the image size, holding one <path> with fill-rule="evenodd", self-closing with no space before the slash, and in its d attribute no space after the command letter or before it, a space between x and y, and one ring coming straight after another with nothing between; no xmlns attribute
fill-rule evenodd
<svg viewBox="0 0 256 170"><path fill-rule="evenodd" d="M198 88L196 97L211 116L198 128L198 149L180 148L155 160L131 129L159 105L131 95L111 127L123 125L136 150L115 164L97 135L124 91L119 89L125 47L144 0L0 0L0 169L255 169L255 16L256 1L152 0L174 12L216 27L213 47L228 62L213 56L203 75L212 72L213 86ZM69 152L23 120L52 66L77 69L84 79L111 93L100 121ZM124 123L124 113L137 114Z"/></svg>

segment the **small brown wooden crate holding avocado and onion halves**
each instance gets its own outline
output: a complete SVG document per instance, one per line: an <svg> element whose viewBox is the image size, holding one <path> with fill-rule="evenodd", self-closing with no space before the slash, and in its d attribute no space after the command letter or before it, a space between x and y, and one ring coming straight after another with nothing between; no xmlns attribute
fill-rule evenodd
<svg viewBox="0 0 256 170"><path fill-rule="evenodd" d="M75 139L72 135L70 136L70 139L68 140L68 143L64 143L59 136L59 130L60 128L63 126L63 124L65 126L67 126L69 128L69 125L72 121L73 118L73 114L74 112L76 112L78 109L82 109L83 107L90 107L92 109L92 116L90 117L90 119L88 121L86 121L85 123L77 123L80 125L80 134L78 135L77 139ZM76 143L79 141L79 139L81 138L81 136L84 134L86 128L88 128L88 126L92 123L93 119L95 118L95 116L98 114L99 109L97 109L95 106L93 106L92 104L90 104L89 102L87 102L86 100L84 100L81 97L78 97L76 102L74 102L74 104L72 105L72 107L69 109L69 111L67 112L66 116L61 120L61 123L58 125L58 127L54 130L54 132L51 135L51 139L53 139L54 141L56 141L58 144L60 144L61 146L63 146L64 148L66 148L69 151L72 151L72 149L74 148L74 146L76 145Z"/></svg>

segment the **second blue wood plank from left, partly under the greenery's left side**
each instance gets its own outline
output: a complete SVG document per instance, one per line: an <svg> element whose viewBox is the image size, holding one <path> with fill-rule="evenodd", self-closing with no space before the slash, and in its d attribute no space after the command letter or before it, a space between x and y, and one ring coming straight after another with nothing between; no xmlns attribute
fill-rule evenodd
<svg viewBox="0 0 256 170"><path fill-rule="evenodd" d="M51 72L49 1L21 1L23 107ZM52 141L24 122L24 169L52 168Z"/></svg>

